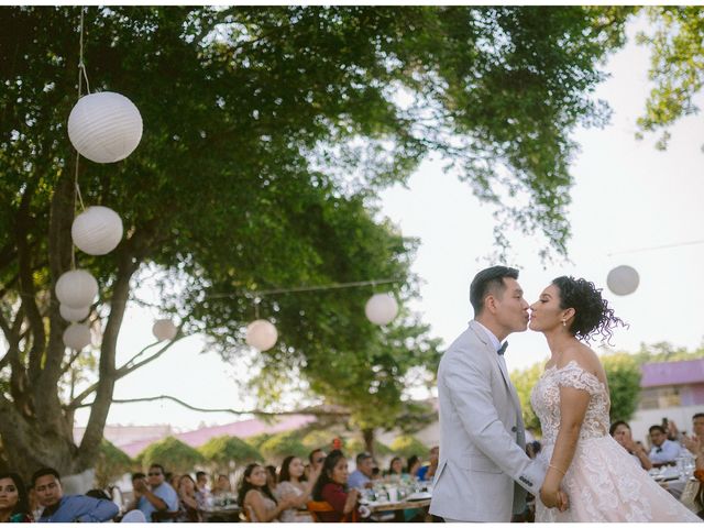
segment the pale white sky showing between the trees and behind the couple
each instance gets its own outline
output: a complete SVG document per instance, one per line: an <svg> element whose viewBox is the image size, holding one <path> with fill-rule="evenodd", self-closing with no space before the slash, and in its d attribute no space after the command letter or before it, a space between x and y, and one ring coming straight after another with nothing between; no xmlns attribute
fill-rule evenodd
<svg viewBox="0 0 704 528"><path fill-rule="evenodd" d="M612 78L597 97L614 114L604 129L580 130L574 139L581 153L572 165L575 186L569 221L572 263L548 265L539 261L536 241L512 237L519 282L529 302L552 278L572 274L605 288L616 315L630 323L614 336L618 350L636 351L641 342L669 341L694 349L704 337L704 244L658 251L614 254L640 248L704 240L704 121L690 117L672 128L667 152L653 146L657 138L636 141L636 119L641 114L649 84L648 54L634 43L608 62ZM702 98L698 98L702 106ZM447 346L464 330L472 312L469 287L485 267L492 251L493 218L490 206L472 196L469 185L446 175L437 161L421 165L408 188L396 186L382 194L383 213L403 233L420 239L413 271L424 284L411 308L431 324L432 334ZM618 297L606 289L609 270L628 264L640 275L632 295ZM360 277L370 279L378 277ZM140 295L140 297L143 297ZM361 308L362 309L362 308ZM129 308L118 341L118 363L153 341L151 327L161 315ZM541 334L527 331L509 337L509 370L546 361L549 352ZM116 399L168 394L199 407L251 408L238 393L234 377L248 377L244 365L223 363L215 353L200 354L202 342L191 337L164 356L118 382ZM82 425L86 411L77 414ZM180 430L200 422L226 424L237 417L187 410L176 404L113 405L108 424L170 424Z"/></svg>

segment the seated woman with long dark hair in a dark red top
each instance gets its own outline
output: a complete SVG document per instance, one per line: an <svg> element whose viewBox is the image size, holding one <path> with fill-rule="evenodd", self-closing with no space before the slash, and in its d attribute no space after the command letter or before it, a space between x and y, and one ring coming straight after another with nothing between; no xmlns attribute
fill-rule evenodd
<svg viewBox="0 0 704 528"><path fill-rule="evenodd" d="M326 458L320 476L312 488L312 499L326 502L333 509L318 514L322 522L340 522L348 515L354 517L360 492L356 488L348 491L346 484L348 460L342 451L334 449Z"/></svg>

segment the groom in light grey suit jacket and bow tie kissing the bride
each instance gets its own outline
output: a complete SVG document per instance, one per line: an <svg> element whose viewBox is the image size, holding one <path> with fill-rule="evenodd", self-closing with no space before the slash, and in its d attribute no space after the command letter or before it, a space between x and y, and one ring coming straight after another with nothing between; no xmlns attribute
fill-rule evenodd
<svg viewBox="0 0 704 528"><path fill-rule="evenodd" d="M524 512L526 491L539 496L544 479L544 469L526 454L520 404L504 362L502 341L528 327L517 278L506 266L474 277L474 320L438 369L440 463L430 513L448 522L508 522L512 513ZM566 508L566 496L560 498L560 509Z"/></svg>

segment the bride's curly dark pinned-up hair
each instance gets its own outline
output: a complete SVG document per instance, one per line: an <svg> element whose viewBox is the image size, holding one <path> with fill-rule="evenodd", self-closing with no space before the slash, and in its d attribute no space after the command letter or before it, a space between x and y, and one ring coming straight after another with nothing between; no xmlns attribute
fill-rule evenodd
<svg viewBox="0 0 704 528"><path fill-rule="evenodd" d="M584 278L562 276L552 280L560 290L560 308L574 308L574 319L570 323L570 333L579 340L590 342L596 336L602 344L610 343L612 330L618 326L628 327L614 315L602 290Z"/></svg>

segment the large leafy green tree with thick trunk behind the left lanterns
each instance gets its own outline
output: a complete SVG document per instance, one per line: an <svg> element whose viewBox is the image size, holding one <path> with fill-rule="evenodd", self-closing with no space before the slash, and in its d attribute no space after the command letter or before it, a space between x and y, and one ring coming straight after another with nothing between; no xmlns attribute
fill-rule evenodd
<svg viewBox="0 0 704 528"><path fill-rule="evenodd" d="M114 384L168 350L116 362L125 306L148 276L179 337L201 332L223 358L252 353L243 330L261 299L282 337L252 358L263 405L273 405L267 389L283 399L276 387L299 376L312 396L371 403L393 422L403 408L386 398L404 394L409 358L437 363L427 328L408 312L389 329L370 326L363 289L254 292L392 277L402 304L411 298L414 242L378 218L375 197L429 152L461 168L505 221L564 253L569 134L604 122L590 94L625 16L581 7L89 8L90 87L128 96L145 130L125 161L76 170L65 122L78 20L78 8L0 8L0 436L25 474L95 464ZM54 293L72 267L75 173L82 200L119 211L127 233L109 255L77 255L100 283L90 321L102 338L82 353L96 355L97 375L79 388L68 373L81 354L62 342ZM506 193L530 206L499 200ZM366 418L371 442L378 417Z"/></svg>

